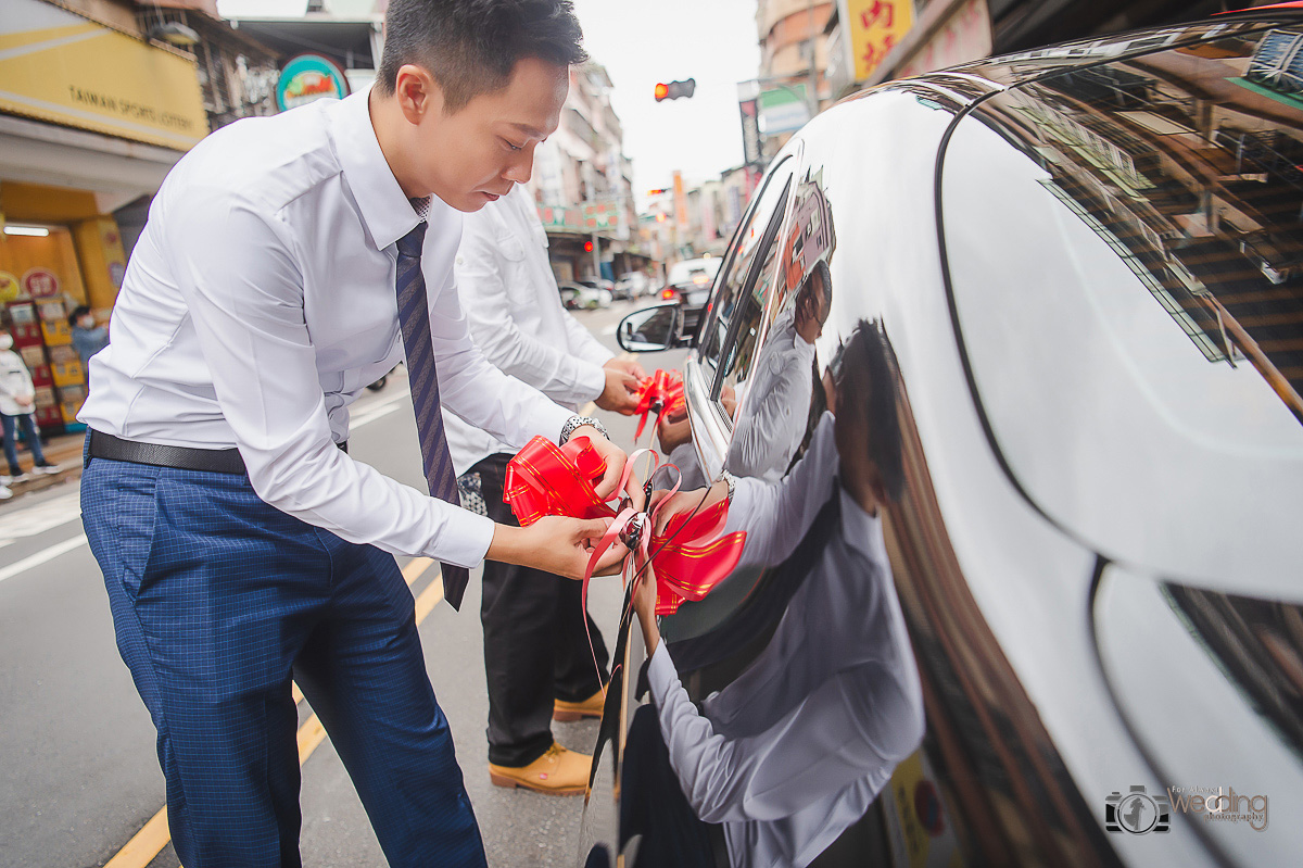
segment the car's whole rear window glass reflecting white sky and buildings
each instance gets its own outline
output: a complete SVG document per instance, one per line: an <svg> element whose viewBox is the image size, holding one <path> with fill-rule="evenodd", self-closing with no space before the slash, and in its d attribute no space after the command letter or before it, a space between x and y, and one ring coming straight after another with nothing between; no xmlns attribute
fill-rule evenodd
<svg viewBox="0 0 1303 868"><path fill-rule="evenodd" d="M1015 482L1108 557L1291 597L1300 47L1260 30L1012 89L959 121L941 173L959 334Z"/></svg>

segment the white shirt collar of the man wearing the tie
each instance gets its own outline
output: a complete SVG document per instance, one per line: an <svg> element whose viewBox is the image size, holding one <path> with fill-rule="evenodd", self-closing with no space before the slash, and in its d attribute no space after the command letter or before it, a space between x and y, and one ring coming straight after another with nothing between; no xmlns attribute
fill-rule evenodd
<svg viewBox="0 0 1303 868"><path fill-rule="evenodd" d="M421 216L404 195L375 138L369 95L370 90L364 90L331 107L331 138L344 180L362 212L362 224L375 248L383 250L414 229ZM427 206L427 215L435 209L437 205Z"/></svg>

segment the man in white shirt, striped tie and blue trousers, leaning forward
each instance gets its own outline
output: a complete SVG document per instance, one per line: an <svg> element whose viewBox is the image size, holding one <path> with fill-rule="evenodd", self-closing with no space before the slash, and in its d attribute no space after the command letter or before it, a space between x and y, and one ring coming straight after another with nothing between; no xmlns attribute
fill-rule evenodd
<svg viewBox="0 0 1303 868"><path fill-rule="evenodd" d="M513 446L592 420L487 364L453 287L461 211L529 179L582 60L568 0L392 0L375 86L237 121L168 175L90 364L82 510L158 729L188 868L298 865L293 678L391 865L483 865L394 555L581 575L605 521L453 506L440 404ZM429 231L427 231L429 229ZM345 451L407 357L422 491Z"/></svg>

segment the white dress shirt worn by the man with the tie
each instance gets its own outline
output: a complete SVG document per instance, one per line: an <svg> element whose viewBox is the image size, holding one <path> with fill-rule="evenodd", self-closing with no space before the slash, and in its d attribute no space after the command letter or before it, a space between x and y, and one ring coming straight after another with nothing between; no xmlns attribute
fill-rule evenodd
<svg viewBox="0 0 1303 868"><path fill-rule="evenodd" d="M168 173L78 418L132 441L238 447L258 497L351 542L472 567L493 523L335 448L348 405L403 360L396 241L418 216L367 93L246 119ZM443 405L508 443L571 412L485 361L453 287L461 215L435 198L421 267Z"/></svg>

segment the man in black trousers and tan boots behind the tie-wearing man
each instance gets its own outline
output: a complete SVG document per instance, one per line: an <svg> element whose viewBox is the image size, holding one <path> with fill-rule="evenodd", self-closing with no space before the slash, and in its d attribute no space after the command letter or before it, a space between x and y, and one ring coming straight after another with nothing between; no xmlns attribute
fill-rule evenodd
<svg viewBox="0 0 1303 868"><path fill-rule="evenodd" d="M627 416L637 409L642 368L615 358L562 306L547 233L526 188L466 216L453 272L470 336L499 370L568 409L590 400ZM482 503L499 524L517 524L502 499L515 450L447 409L443 417L463 500ZM490 779L555 795L584 792L593 759L556 744L551 730L554 717L602 716L607 652L584 613L581 588L498 560L485 560L482 586Z"/></svg>

